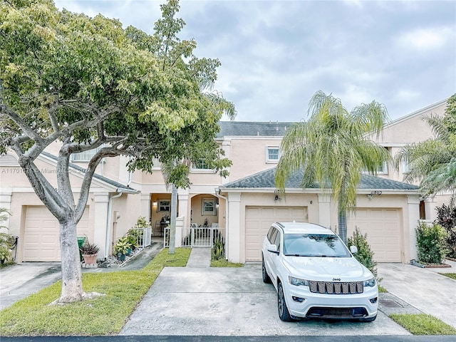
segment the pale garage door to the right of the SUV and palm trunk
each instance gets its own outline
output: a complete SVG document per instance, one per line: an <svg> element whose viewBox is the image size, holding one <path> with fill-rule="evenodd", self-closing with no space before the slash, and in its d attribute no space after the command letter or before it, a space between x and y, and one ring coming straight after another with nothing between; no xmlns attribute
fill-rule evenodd
<svg viewBox="0 0 456 342"><path fill-rule="evenodd" d="M347 219L347 236L353 236L355 227L367 234L368 244L378 262L400 262L400 209L356 209Z"/></svg>

